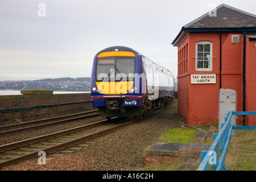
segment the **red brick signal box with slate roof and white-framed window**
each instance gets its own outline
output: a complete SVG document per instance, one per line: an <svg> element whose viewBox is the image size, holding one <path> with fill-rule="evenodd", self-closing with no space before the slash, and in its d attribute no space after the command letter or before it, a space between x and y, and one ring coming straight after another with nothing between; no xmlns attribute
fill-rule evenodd
<svg viewBox="0 0 256 182"><path fill-rule="evenodd" d="M256 15L222 4L183 26L178 51L178 113L189 125L218 120L220 89L237 92L237 111L256 111ZM256 117L237 122L256 126Z"/></svg>

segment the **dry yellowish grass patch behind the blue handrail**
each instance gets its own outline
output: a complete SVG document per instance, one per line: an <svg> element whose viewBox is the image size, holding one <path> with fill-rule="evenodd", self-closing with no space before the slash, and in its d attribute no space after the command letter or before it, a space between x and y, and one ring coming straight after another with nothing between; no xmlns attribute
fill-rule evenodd
<svg viewBox="0 0 256 182"><path fill-rule="evenodd" d="M256 171L256 131L236 130L225 164L234 171Z"/></svg>

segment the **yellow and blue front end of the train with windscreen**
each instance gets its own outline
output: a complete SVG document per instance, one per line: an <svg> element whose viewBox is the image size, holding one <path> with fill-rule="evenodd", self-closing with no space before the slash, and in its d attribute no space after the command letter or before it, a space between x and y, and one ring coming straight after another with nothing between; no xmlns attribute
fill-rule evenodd
<svg viewBox="0 0 256 182"><path fill-rule="evenodd" d="M106 118L143 113L141 55L127 47L100 51L93 61L92 105Z"/></svg>

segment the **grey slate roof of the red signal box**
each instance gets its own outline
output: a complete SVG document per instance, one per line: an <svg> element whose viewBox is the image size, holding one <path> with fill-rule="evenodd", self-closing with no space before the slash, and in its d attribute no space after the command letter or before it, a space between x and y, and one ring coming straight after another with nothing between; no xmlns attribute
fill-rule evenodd
<svg viewBox="0 0 256 182"><path fill-rule="evenodd" d="M188 32L256 31L256 15L221 4L183 26L172 44L184 39ZM183 34L185 32L185 34ZM183 35L182 35L183 34ZM182 41L181 41L182 42Z"/></svg>

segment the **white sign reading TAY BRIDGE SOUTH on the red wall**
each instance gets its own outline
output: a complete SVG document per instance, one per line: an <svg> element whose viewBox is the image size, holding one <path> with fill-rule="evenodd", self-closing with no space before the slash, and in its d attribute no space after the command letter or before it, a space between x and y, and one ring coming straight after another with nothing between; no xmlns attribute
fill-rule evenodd
<svg viewBox="0 0 256 182"><path fill-rule="evenodd" d="M191 84L216 84L216 74L191 75Z"/></svg>

